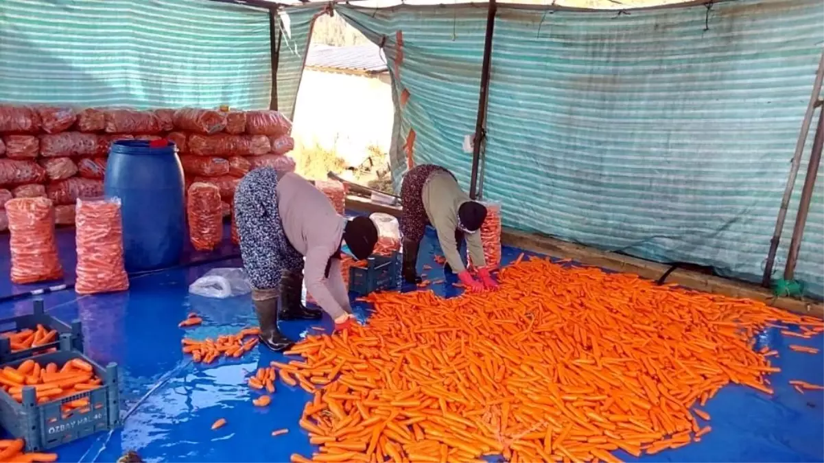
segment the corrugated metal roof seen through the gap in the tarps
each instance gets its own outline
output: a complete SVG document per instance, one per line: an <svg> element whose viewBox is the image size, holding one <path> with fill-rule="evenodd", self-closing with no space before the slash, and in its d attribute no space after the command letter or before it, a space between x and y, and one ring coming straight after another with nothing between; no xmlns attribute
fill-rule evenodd
<svg viewBox="0 0 824 463"><path fill-rule="evenodd" d="M307 55L307 67L377 74L386 72L386 57L376 44L312 45Z"/></svg>

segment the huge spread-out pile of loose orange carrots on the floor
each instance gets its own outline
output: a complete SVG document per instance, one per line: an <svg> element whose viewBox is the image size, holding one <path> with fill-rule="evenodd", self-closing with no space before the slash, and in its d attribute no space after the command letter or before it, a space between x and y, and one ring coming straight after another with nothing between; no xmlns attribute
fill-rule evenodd
<svg viewBox="0 0 824 463"><path fill-rule="evenodd" d="M547 260L501 271L497 292L368 296L350 333L310 336L273 362L314 394L300 420L320 450L292 461L620 461L710 431L703 406L736 383L765 394L768 325L824 322L761 302L657 286ZM800 381L798 387L808 387ZM808 387L814 388L814 387Z"/></svg>

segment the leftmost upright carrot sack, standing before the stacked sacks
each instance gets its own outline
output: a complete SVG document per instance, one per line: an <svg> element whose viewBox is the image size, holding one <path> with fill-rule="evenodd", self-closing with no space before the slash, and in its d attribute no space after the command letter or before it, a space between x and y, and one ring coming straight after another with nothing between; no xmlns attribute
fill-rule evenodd
<svg viewBox="0 0 824 463"><path fill-rule="evenodd" d="M37 283L63 277L54 239L54 206L45 198L15 198L6 203L12 282Z"/></svg>

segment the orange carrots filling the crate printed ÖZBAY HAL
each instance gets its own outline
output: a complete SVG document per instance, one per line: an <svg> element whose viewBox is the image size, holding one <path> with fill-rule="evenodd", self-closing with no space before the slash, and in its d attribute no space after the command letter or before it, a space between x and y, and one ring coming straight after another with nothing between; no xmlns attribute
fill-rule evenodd
<svg viewBox="0 0 824 463"><path fill-rule="evenodd" d="M63 367L58 367L56 363L40 365L28 359L16 368L2 367L0 370L2 390L18 402L22 402L23 388L26 386L35 388L37 403L43 404L91 391L101 384L102 380L95 375L91 364L81 358L74 358ZM71 412L73 409L78 409L80 413L88 413L91 407L89 400L84 398L67 402L63 404L62 409L63 413Z"/></svg>

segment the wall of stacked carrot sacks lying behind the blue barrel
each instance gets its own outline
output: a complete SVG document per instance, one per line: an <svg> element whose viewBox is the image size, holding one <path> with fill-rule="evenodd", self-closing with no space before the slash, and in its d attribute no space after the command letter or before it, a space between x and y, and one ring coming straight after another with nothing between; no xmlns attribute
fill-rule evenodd
<svg viewBox="0 0 824 463"><path fill-rule="evenodd" d="M12 198L48 197L55 222L73 225L78 198L103 194L106 157L116 140L176 143L186 186L217 185L222 212L237 183L259 166L294 170L292 123L278 111L129 110L0 105L0 207ZM0 208L0 230L7 228Z"/></svg>

